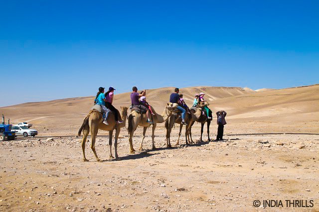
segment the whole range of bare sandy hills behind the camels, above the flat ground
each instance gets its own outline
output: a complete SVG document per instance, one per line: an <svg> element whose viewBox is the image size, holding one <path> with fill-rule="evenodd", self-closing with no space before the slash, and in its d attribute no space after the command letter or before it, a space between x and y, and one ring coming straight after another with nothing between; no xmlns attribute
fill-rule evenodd
<svg viewBox="0 0 319 212"><path fill-rule="evenodd" d="M173 89L168 87L148 90L147 100L160 113ZM219 109L226 110L227 118L234 123L286 121L288 124L302 125L308 121L315 124L312 131L316 131L318 127L319 85L262 92L238 87L191 87L182 88L180 92L189 106L192 105L195 94L205 93L206 100L210 102L209 107L214 112ZM68 130L81 124L93 100L94 97L80 97L25 103L0 107L0 112L3 112L6 118L10 118L12 123L30 121L35 128L49 126ZM115 95L116 107L129 105L130 93Z"/></svg>

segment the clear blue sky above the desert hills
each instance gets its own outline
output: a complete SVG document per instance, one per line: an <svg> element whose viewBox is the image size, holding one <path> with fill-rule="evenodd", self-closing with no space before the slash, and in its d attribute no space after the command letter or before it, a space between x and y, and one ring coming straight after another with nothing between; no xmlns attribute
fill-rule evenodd
<svg viewBox="0 0 319 212"><path fill-rule="evenodd" d="M0 0L0 106L319 83L318 0Z"/></svg>

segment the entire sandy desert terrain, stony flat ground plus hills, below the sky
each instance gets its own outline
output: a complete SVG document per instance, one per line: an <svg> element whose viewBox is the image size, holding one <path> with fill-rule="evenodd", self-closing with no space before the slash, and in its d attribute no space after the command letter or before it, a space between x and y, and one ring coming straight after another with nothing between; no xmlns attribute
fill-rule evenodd
<svg viewBox="0 0 319 212"><path fill-rule="evenodd" d="M171 90L148 91L157 112ZM260 91L196 87L181 92L188 105L194 93L204 92L213 111L227 111L224 141L207 142L205 126L204 141L199 142L196 123L194 144L185 147L182 135L180 146L166 148L160 124L156 150L148 129L145 150L129 154L127 130L122 128L120 161L109 159L108 133L99 132L96 151L103 162L96 162L90 142L90 161L83 162L81 136L76 134L92 97L1 107L13 123L33 123L39 135L0 143L0 210L319 211L319 85ZM129 105L128 93L115 97L117 107ZM215 121L214 116L211 138L216 136ZM176 125L173 144L177 132ZM136 150L141 134L138 128ZM286 200L300 201L299 207L287 207ZM254 201L261 206L254 207ZM277 201L277 206L282 201L283 207L263 207L265 201Z"/></svg>

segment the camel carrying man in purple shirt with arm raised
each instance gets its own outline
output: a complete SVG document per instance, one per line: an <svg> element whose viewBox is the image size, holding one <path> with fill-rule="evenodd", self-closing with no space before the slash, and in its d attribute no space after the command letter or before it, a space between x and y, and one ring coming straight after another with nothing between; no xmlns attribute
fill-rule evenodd
<svg viewBox="0 0 319 212"><path fill-rule="evenodd" d="M152 126L152 148L156 149L155 141L154 141L155 128L157 126L157 123L164 122L172 114L171 110L173 110L173 106L172 106L172 103L167 103L167 106L165 106L164 111L162 112L161 115L158 114L153 108L152 108L152 110L155 113L155 115L153 115L154 124ZM145 133L146 133L147 128L149 126L151 126L151 124L147 122L146 115L142 115L142 114L136 112L135 110L133 110L131 112L131 114L129 115L128 120L129 120L128 131L129 131L129 135L130 135L130 138L129 138L130 153L134 154L135 153L135 149L133 148L133 139L132 138L133 138L133 135L134 135L134 132L135 132L136 128L138 126L143 126L142 141L141 141L141 144L140 144L140 151L142 151L143 150L143 140L145 138Z"/></svg>

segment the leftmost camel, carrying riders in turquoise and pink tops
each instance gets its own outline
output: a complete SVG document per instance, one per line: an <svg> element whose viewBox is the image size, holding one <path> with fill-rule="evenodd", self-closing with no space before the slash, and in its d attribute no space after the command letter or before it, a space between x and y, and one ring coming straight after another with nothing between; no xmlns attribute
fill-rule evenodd
<svg viewBox="0 0 319 212"><path fill-rule="evenodd" d="M81 135L81 132L83 131L83 139L82 139L82 151L83 151L83 161L88 161L85 157L85 142L86 139L91 132L91 149L96 157L96 160L98 162L101 162L99 157L96 154L95 151L95 139L96 135L98 134L99 129L109 131L109 145L110 145L110 158L114 158L112 155L112 135L113 131L115 129L115 139L114 139L114 148L115 148L115 159L119 160L118 156L118 137L121 131L122 127L125 127L126 124L126 119L127 119L127 111L128 107L126 106L121 106L121 112L119 115L121 115L123 123L118 124L115 121L115 116L113 112L110 112L109 117L108 117L108 123L109 125L106 125L103 123L103 115L101 112L97 110L90 110L89 114L84 118L83 124L81 128L79 129L78 135Z"/></svg>

